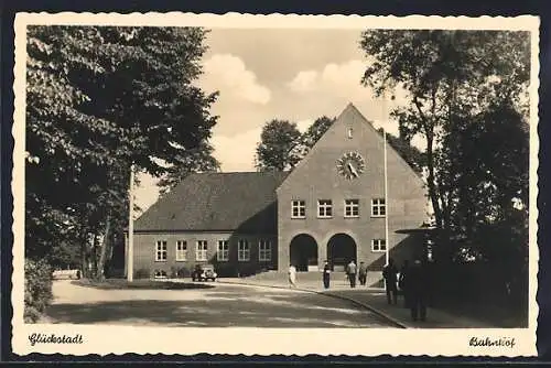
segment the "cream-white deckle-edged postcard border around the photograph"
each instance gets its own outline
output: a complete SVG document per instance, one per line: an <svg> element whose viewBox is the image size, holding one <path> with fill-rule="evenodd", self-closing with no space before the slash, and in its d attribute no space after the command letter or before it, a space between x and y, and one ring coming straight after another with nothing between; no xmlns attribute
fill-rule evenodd
<svg viewBox="0 0 551 368"><path fill-rule="evenodd" d="M534 356L538 305L538 87L539 18L504 17L359 17L359 15L252 15L227 13L18 13L14 22L15 111L13 151L13 337L15 354L245 354L245 355L430 355L430 356ZM160 328L108 325L25 325L23 323L24 259L24 142L25 142L25 26L28 24L176 25L206 28L273 29L469 29L531 32L530 85L530 310L529 327L519 329L339 329L339 328ZM32 333L75 335L84 344L31 346ZM469 347L471 337L515 338L515 348ZM193 338L191 338L193 337ZM328 338L328 339L327 339ZM185 342L185 343L183 343ZM207 342L207 343L205 343Z"/></svg>

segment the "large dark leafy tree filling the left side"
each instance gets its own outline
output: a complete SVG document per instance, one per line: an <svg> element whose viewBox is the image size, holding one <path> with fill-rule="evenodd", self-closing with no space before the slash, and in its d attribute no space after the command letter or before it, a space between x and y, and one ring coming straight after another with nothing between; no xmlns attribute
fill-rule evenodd
<svg viewBox="0 0 551 368"><path fill-rule="evenodd" d="M108 240L127 223L130 165L177 175L214 162L216 94L193 85L199 28L30 26L26 68L28 257ZM201 153L201 154L199 154ZM93 241L94 243L94 241Z"/></svg>

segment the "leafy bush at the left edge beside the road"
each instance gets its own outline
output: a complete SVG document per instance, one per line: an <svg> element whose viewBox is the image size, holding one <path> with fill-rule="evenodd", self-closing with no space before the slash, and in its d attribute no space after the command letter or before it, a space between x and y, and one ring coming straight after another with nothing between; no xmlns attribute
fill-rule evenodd
<svg viewBox="0 0 551 368"><path fill-rule="evenodd" d="M52 301L52 267L44 260L25 259L25 323L35 323Z"/></svg>

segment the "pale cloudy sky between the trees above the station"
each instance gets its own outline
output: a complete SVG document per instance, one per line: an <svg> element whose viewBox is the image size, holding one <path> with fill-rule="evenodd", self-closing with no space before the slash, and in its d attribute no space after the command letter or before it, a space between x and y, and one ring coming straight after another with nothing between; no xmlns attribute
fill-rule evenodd
<svg viewBox="0 0 551 368"><path fill-rule="evenodd" d="M214 29L207 34L204 74L196 82L219 91L210 143L223 172L255 171L262 126L272 119L301 131L318 117L338 117L353 102L376 128L398 134L388 111L403 100L377 99L360 85L368 59L359 48L361 30ZM139 175L136 203L145 210L159 196L156 181Z"/></svg>

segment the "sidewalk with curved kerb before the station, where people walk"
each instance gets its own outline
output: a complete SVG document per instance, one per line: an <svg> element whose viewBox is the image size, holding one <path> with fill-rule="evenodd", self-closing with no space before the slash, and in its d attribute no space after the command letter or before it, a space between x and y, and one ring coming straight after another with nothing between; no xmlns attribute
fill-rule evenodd
<svg viewBox="0 0 551 368"><path fill-rule="evenodd" d="M289 284L282 280L228 278L218 279L218 282L289 289ZM490 325L483 321L453 315L435 309L428 309L425 322L413 322L411 320L410 310L403 307L402 297L399 296L398 305L388 305L385 290L359 285L356 285L356 289L350 289L350 285L342 280L332 280L329 290L323 289L321 280L304 280L302 282L299 280L296 290L315 292L352 301L379 314L402 328L499 328L498 326Z"/></svg>

